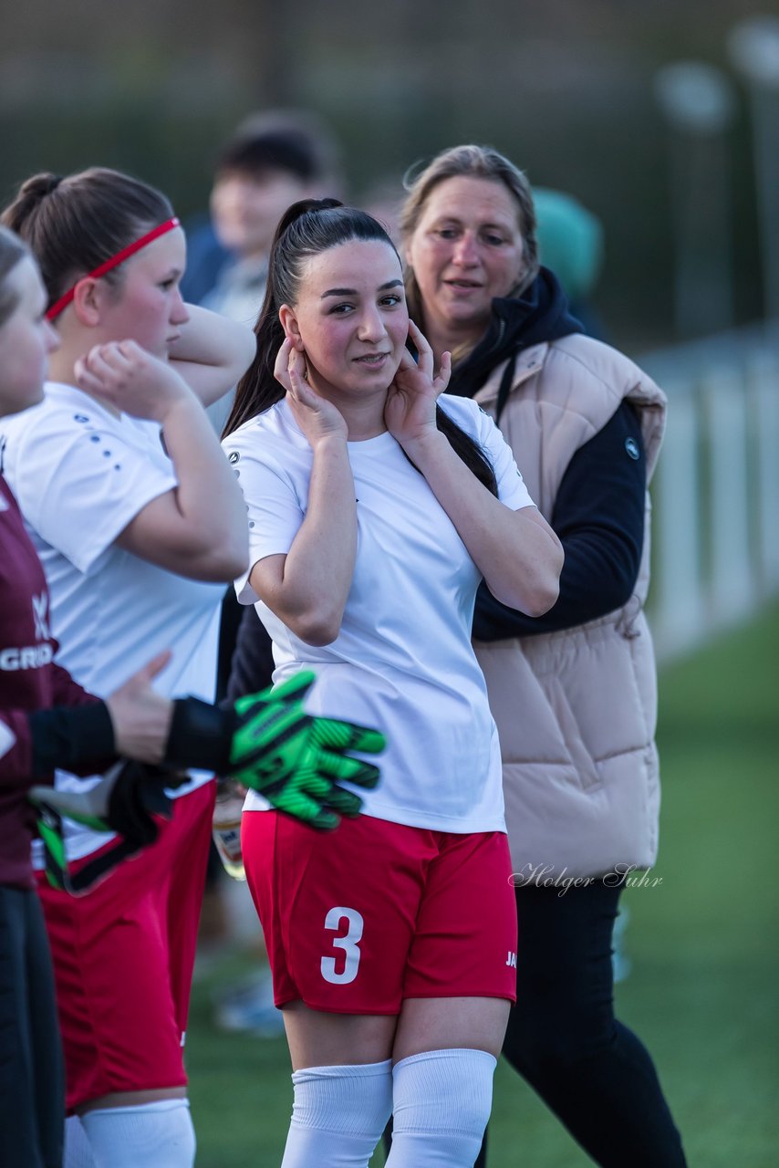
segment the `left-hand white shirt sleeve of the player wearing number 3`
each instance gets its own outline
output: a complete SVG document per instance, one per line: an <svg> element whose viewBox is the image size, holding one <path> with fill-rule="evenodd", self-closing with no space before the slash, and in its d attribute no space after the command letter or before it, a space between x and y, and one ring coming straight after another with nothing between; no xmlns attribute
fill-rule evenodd
<svg viewBox="0 0 779 1168"><path fill-rule="evenodd" d="M306 510L284 468L262 449L248 453L248 445L230 437L223 443L238 475L249 520L249 566L236 579L235 590L242 604L255 604L259 597L249 583L252 568L266 556L288 552Z"/></svg>

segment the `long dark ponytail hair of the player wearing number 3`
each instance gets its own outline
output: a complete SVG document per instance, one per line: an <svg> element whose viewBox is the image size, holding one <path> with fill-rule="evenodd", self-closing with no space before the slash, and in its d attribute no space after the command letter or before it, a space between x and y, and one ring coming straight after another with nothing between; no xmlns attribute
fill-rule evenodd
<svg viewBox="0 0 779 1168"><path fill-rule="evenodd" d="M265 299L255 325L257 353L238 382L223 437L284 397L284 387L273 376L284 341L279 308L283 304L294 306L298 303L302 265L308 257L353 239L387 243L397 255L395 244L373 215L345 207L336 199L304 199L293 203L281 217L271 245ZM498 494L495 473L480 446L440 406L436 409L436 424L479 481Z"/></svg>

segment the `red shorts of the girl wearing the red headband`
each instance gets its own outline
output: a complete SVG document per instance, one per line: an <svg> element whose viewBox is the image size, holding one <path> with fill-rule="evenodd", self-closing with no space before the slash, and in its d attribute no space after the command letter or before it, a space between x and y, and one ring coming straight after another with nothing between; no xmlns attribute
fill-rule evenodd
<svg viewBox="0 0 779 1168"><path fill-rule="evenodd" d="M58 892L39 872L69 1113L114 1091L187 1082L182 1047L214 795L208 783L174 800L157 842L85 896Z"/></svg>

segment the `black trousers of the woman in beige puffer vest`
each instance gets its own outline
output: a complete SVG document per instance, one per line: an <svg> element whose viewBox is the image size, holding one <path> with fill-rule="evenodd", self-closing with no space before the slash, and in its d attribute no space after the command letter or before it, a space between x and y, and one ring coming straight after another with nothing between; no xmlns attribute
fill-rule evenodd
<svg viewBox="0 0 779 1168"><path fill-rule="evenodd" d="M652 1058L614 1017L621 888L596 881L559 892L516 890L516 1006L503 1055L601 1168L683 1168Z"/></svg>

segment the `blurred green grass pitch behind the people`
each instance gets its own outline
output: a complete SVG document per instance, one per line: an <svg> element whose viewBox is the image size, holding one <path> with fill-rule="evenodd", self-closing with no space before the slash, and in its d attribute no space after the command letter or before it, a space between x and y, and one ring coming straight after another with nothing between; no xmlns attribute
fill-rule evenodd
<svg viewBox="0 0 779 1168"><path fill-rule="evenodd" d="M651 1049L691 1168L779 1162L779 606L661 675L655 887L625 894L619 1016ZM199 1168L273 1168L291 1110L284 1040L217 1031L195 986L187 1043ZM375 1157L382 1162L381 1154ZM491 1168L591 1161L506 1065ZM630 1166L625 1166L630 1168ZM660 1166L659 1166L660 1168Z"/></svg>

